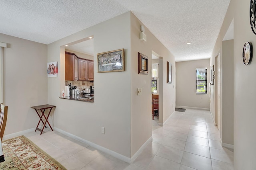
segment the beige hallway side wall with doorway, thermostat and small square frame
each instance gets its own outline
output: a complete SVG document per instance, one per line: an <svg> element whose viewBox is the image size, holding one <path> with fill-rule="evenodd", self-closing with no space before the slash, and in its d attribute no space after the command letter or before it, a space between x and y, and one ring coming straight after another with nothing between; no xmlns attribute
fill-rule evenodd
<svg viewBox="0 0 256 170"><path fill-rule="evenodd" d="M164 84L161 88L164 90L164 94L159 92L160 109L162 109L162 117L159 117L159 123L163 123L173 112L174 107L172 103L175 103L175 92L172 87L173 84L167 84L167 61L170 61L175 67L174 56L160 43L158 39L145 28L145 34L147 35L147 41L140 40L140 25L143 25L134 14L131 13L131 98L132 98L132 110L131 110L131 155L135 152L151 137L152 133L152 98L151 98L151 64L152 64L152 51L155 51L164 60L164 67L161 69L165 73ZM138 74L138 52L148 57L148 75ZM160 67L159 67L160 68ZM175 82L175 78L173 78ZM159 82L159 81L158 81ZM142 88L142 95L137 96L137 88ZM163 107L164 106L164 107ZM163 109L164 108L164 109ZM160 111L161 112L161 111ZM159 114L160 115L160 114Z"/></svg>

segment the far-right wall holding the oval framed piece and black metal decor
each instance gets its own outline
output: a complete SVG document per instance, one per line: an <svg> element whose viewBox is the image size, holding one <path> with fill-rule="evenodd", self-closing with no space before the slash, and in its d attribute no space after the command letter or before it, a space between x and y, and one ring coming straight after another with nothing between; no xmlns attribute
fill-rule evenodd
<svg viewBox="0 0 256 170"><path fill-rule="evenodd" d="M247 66L242 61L244 43L256 47L256 35L249 18L250 0L234 0L234 168L256 167L256 60Z"/></svg>

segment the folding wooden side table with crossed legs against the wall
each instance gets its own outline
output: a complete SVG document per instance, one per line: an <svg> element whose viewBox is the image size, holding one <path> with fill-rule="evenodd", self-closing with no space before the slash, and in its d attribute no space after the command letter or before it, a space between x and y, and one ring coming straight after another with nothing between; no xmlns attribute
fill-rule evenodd
<svg viewBox="0 0 256 170"><path fill-rule="evenodd" d="M31 108L35 109L37 115L38 115L39 118L40 118L40 120L39 120L39 122L38 122L38 124L37 124L37 126L36 126L36 130L41 131L40 135L42 135L46 123L48 123L48 125L49 125L50 128L52 129L50 123L48 122L48 117L49 117L49 115L50 115L50 113L51 113L53 107L56 107L56 106L52 106L52 105L50 105L50 104L45 104L45 105L32 106L32 107L31 107ZM46 117L45 114L44 114L45 109L50 109L50 110L49 110L49 113L48 113L48 115L47 115L47 117ZM41 113L42 113L42 115L40 115L37 110L40 110ZM42 117L43 117L43 116L44 116L44 118L45 118L45 122L42 120ZM38 125L39 125L40 121L42 121L42 123L44 124L44 126L43 126L42 129L39 129L39 128L38 128ZM35 130L35 132L36 132L36 130ZM53 131L53 129L52 129L52 131Z"/></svg>

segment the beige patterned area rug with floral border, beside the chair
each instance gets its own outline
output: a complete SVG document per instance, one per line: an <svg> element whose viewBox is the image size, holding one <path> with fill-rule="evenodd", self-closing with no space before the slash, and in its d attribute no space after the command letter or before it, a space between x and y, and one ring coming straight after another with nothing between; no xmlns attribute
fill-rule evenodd
<svg viewBox="0 0 256 170"><path fill-rule="evenodd" d="M24 136L2 142L5 161L0 170L66 170Z"/></svg>

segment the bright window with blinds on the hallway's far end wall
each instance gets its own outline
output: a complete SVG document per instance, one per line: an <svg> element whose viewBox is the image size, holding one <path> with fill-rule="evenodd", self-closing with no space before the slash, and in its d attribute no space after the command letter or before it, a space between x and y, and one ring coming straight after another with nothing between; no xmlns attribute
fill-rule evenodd
<svg viewBox="0 0 256 170"><path fill-rule="evenodd" d="M207 68L196 68L196 94L207 94Z"/></svg>

